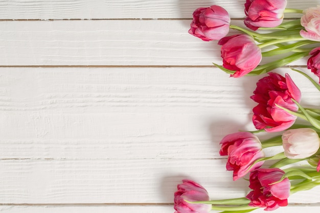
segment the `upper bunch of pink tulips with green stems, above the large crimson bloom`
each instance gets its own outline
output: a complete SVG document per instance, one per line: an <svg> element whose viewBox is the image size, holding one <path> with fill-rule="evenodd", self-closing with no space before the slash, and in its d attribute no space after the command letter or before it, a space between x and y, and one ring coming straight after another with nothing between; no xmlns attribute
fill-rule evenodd
<svg viewBox="0 0 320 213"><path fill-rule="evenodd" d="M247 0L244 24L248 29L230 25L228 12L220 6L198 8L193 13L189 33L204 41L218 40L223 65L215 65L232 77L260 75L311 55L308 68L320 78L320 47L310 47L320 41L320 6L299 10L288 9L286 5L286 0ZM287 12L302 16L283 22ZM226 36L230 29L240 33ZM302 48L306 45L308 48ZM292 54L284 56L287 53ZM283 57L261 64L262 57L275 55Z"/></svg>

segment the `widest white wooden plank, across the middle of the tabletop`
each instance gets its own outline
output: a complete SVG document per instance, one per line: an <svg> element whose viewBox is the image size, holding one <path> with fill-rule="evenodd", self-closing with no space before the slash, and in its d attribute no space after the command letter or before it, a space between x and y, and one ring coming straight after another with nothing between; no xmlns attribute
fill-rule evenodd
<svg viewBox="0 0 320 213"><path fill-rule="evenodd" d="M290 75L302 103L319 105L313 85ZM223 136L255 130L249 97L260 78L208 67L5 67L1 158L220 158Z"/></svg>

